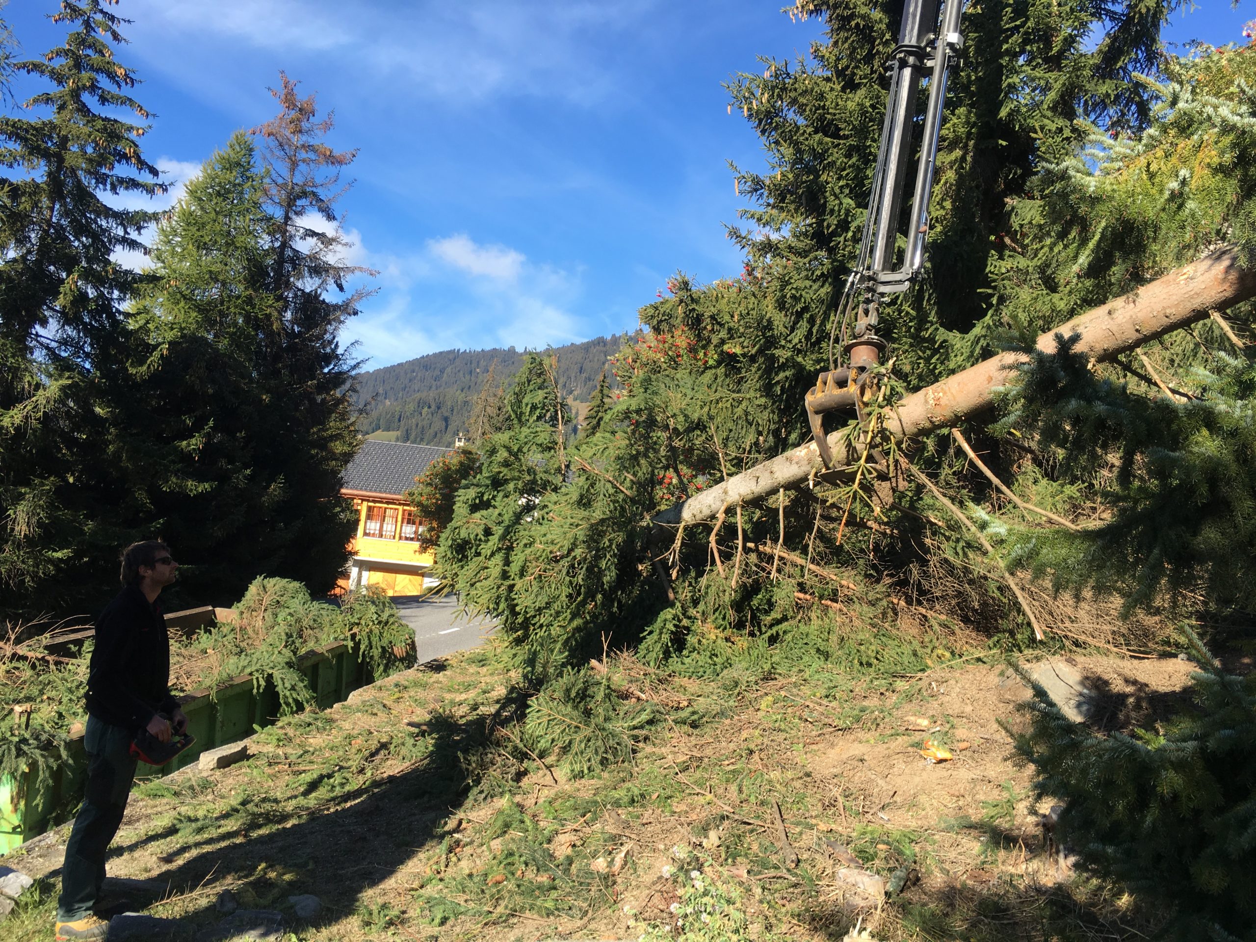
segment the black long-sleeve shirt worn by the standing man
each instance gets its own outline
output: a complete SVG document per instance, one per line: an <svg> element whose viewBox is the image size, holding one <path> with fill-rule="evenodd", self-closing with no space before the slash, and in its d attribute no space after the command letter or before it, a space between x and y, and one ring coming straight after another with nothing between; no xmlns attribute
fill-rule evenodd
<svg viewBox="0 0 1256 942"><path fill-rule="evenodd" d="M139 731L177 703L170 693L170 634L157 603L128 585L95 622L87 711L111 726Z"/></svg>

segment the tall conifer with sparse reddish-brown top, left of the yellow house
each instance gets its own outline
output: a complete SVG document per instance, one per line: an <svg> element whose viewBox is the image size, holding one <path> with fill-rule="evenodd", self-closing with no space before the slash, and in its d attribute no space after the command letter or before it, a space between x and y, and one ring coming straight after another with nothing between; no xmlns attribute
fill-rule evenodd
<svg viewBox="0 0 1256 942"><path fill-rule="evenodd" d="M280 73L271 94L279 114L251 132L261 142L269 288L278 301L263 333L260 382L270 408L257 460L275 481L268 501L284 539L264 565L318 592L332 587L353 522L338 492L358 450L352 398L358 364L340 347L339 330L372 294L350 280L376 273L344 260L349 244L335 210L349 187L340 171L357 151L325 143L333 116L319 118L314 95L298 95L288 75Z"/></svg>

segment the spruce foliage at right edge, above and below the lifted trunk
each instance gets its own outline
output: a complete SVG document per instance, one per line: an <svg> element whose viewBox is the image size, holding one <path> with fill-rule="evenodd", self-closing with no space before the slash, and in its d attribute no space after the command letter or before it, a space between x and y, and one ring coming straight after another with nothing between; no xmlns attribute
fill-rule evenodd
<svg viewBox="0 0 1256 942"><path fill-rule="evenodd" d="M1145 83L1154 112L1144 133L1095 133L1085 157L1048 168L1044 229L1073 261L1055 268L1060 256L1044 250L1026 268L1112 284L1222 240L1256 260L1256 50L1169 59L1166 72ZM1225 318L1251 315L1243 304ZM1218 322L1148 344L1137 365L1093 368L1066 337L1054 353L1027 350L993 431L1034 442L1061 482L1085 486L1109 512L1079 533L1014 528L1014 559L1061 588L1118 592L1127 607L1184 588L1216 608L1256 607L1256 364Z"/></svg>

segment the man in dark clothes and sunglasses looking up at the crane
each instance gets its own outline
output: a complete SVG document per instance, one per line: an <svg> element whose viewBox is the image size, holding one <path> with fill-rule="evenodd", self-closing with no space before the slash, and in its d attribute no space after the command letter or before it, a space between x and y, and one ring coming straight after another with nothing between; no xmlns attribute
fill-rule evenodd
<svg viewBox="0 0 1256 942"><path fill-rule="evenodd" d="M109 923L92 909L104 883L106 852L122 824L136 777L131 744L144 728L170 742L172 734L187 726L170 693L170 636L157 607L157 597L175 582L177 570L165 543L127 546L123 589L95 623L87 682L87 794L65 845L58 942L108 936Z"/></svg>

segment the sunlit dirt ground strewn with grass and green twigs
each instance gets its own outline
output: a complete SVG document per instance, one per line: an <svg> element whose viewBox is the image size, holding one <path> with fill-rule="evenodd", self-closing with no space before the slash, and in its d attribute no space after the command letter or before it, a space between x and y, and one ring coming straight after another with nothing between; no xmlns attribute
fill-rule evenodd
<svg viewBox="0 0 1256 942"><path fill-rule="evenodd" d="M1107 728L1154 723L1194 669L1069 659ZM736 901L751 936L835 939L855 918L883 939L1133 932L1127 899L1044 853L1045 809L1000 726L1020 722L1027 696L1007 667L734 693L613 668L664 716L600 776L573 780L517 745L511 676L484 648L290 717L251 740L246 762L138 786L109 873L146 880L128 889L148 912L205 938L224 891L311 942L636 938L690 904L664 867L701 870L702 893ZM926 740L953 757L926 761ZM65 831L4 860L44 878L6 938L51 939ZM907 885L877 906L852 869ZM323 912L298 919L296 894Z"/></svg>

